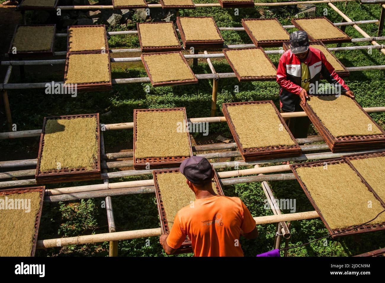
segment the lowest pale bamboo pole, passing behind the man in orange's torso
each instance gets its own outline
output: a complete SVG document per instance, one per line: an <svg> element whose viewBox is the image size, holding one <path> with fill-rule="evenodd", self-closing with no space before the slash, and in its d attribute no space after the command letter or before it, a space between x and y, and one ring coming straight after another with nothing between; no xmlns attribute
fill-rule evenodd
<svg viewBox="0 0 385 283"><path fill-rule="evenodd" d="M254 217L254 220L256 221L256 225L261 225L261 224L269 224L269 223L278 223L283 221L286 222L286 221L313 219L318 217L319 216L316 211L307 211L307 212L288 213L288 214L271 215L271 216L259 216L259 217ZM162 233L161 228L153 228L153 229L122 231L122 232L115 232L115 233L102 233L102 234L77 236L77 237L69 237L69 238L47 239L47 240L37 241L36 248L38 249L55 248L58 246L70 246L74 244L92 244L92 243L100 243L105 241L147 238L147 237L160 236L161 233Z"/></svg>

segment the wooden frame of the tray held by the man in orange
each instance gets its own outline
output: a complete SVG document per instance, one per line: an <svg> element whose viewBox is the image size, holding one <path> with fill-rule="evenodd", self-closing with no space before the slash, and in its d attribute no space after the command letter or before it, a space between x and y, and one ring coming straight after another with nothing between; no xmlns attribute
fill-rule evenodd
<svg viewBox="0 0 385 283"><path fill-rule="evenodd" d="M213 168L213 170L214 170L214 168ZM168 227L167 217L166 217L164 207L163 207L161 189L159 188L159 185L157 182L157 175L165 174L165 173L173 173L173 172L179 172L179 168L152 171L152 176L154 178L155 194L156 194L156 204L157 204L157 208L158 208L159 221L161 223L162 234L170 233L170 231L169 231L169 227ZM214 170L214 172L215 172L215 170ZM218 194L221 196L224 196L221 184L219 183L219 178L218 178L217 172L215 172L214 178L211 180L211 182L214 182L216 184L216 189L218 191ZM181 253L192 253L191 240L189 239L188 236L186 237L186 239L182 243L181 247L176 250L174 255L181 254Z"/></svg>

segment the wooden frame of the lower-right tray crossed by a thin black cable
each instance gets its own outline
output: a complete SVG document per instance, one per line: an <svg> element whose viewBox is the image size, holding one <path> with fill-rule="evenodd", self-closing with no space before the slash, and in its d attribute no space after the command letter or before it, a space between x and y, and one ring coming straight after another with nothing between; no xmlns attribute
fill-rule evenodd
<svg viewBox="0 0 385 283"><path fill-rule="evenodd" d="M366 225L363 225L363 226L360 226L359 228L357 229L354 229L354 230L351 230L351 231L346 231L346 230L349 230L349 229L352 229L353 227L355 226L351 226L351 227L348 227L348 228L338 228L338 229L334 229L332 230L329 226L329 224L326 222L325 218L323 217L322 213L320 212L320 209L318 208L317 204L315 203L314 199L311 197L306 185L302 182L300 176L298 176L297 172L295 171L296 168L299 168L299 167L316 167L316 166L324 166L326 164L328 165L331 165L331 164L348 164L350 166L350 168L352 168L356 174L358 175L358 177L360 177L361 179L361 182L363 184L365 184L365 186L368 188L368 190L374 195L374 197L380 201L380 203L382 204L382 206L385 208L384 204L383 204L383 201L378 197L377 193L372 189L372 187L370 187L366 182L365 182L365 179L362 178L362 176L360 175L360 173L357 172L357 170L352 167L350 165L349 162L346 161L345 158L334 158L334 159L325 159L325 160L322 160L322 161L314 161L314 162L305 162L305 163L300 163L300 164L290 164L290 169L291 171L293 171L293 174L295 176L295 178L297 179L298 183L300 183L300 186L301 188L303 189L304 193L306 194L306 196L308 197L310 203L313 205L313 207L315 208L315 210L317 211L318 215L320 216L322 222L325 224L326 228L328 229L330 235L335 238L335 237L338 237L338 236L346 236L346 235L352 235L352 234L360 234L360 233L365 233L365 232L370 232L370 231L379 231L379 230L384 230L385 229L385 222L384 223L380 223L380 224L366 224ZM370 219L368 219L370 220ZM344 232L346 231L346 232ZM340 233L342 232L342 233ZM340 233L340 234L336 234L336 235L333 235L335 233Z"/></svg>

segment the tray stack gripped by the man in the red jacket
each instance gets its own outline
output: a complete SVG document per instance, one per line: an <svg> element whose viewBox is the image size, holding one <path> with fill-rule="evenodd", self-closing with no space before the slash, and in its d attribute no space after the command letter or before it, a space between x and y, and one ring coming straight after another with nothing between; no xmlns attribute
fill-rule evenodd
<svg viewBox="0 0 385 283"><path fill-rule="evenodd" d="M301 107L332 152L385 148L385 132L355 99L309 95Z"/></svg>

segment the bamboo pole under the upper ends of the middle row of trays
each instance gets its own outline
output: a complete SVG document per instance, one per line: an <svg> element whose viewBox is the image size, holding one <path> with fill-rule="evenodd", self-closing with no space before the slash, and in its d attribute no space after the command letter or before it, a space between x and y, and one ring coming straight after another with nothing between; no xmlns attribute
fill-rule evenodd
<svg viewBox="0 0 385 283"><path fill-rule="evenodd" d="M380 107L363 107L363 110L372 113L372 112L383 112L385 111L385 106ZM305 117L305 112L288 112L288 113L281 113L282 117ZM199 122L208 122L208 123L219 123L219 122L226 122L226 119L224 116L220 117L202 117L202 118L190 118L187 119L189 122L192 123L199 123ZM133 122L126 122L126 123L118 123L118 124L106 124L105 129L106 131L112 131L112 130L126 130L126 129L133 129L134 123ZM0 139L15 139L20 137L36 137L40 136L42 130L27 130L27 131L17 131L17 132L3 132L0 133ZM301 139L302 140L302 139ZM317 140L320 141L320 140ZM307 141L308 142L308 141ZM35 160L35 159L33 159ZM4 161L3 161L4 162ZM0 168L1 168L1 162L0 162Z"/></svg>

